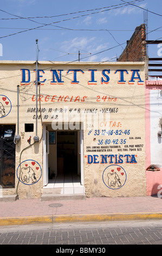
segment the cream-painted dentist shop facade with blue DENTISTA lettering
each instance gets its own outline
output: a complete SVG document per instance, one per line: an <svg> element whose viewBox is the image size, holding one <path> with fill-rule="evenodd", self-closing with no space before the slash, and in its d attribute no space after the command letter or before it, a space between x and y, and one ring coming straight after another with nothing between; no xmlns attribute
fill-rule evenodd
<svg viewBox="0 0 162 256"><path fill-rule="evenodd" d="M0 67L3 194L146 196L144 62Z"/></svg>

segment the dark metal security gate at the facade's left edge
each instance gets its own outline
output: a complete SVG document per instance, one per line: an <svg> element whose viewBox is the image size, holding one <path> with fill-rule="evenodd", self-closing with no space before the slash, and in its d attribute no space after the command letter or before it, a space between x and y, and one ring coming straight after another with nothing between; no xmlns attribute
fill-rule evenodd
<svg viewBox="0 0 162 256"><path fill-rule="evenodd" d="M0 185L15 187L15 125L0 125Z"/></svg>

